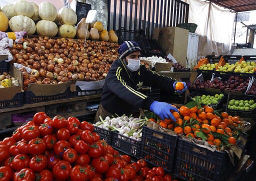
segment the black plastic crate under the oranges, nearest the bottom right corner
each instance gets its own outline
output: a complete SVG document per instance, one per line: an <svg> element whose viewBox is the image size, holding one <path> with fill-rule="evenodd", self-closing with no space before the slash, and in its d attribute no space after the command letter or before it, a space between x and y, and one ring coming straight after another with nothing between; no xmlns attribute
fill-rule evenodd
<svg viewBox="0 0 256 181"><path fill-rule="evenodd" d="M233 169L225 151L210 151L178 139L174 174L182 180L226 180Z"/></svg>

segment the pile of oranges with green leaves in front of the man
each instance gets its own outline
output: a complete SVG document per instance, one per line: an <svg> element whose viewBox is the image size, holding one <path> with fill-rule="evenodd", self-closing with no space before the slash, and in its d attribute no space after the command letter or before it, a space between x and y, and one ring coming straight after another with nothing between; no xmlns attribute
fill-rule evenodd
<svg viewBox="0 0 256 181"><path fill-rule="evenodd" d="M209 144L216 145L217 148L236 143L238 134L236 128L241 123L238 116L228 115L227 112L217 115L208 105L201 108L181 106L178 110L179 112L172 111L176 118L175 122L165 119L157 123L177 134L184 133L188 137L203 139Z"/></svg>

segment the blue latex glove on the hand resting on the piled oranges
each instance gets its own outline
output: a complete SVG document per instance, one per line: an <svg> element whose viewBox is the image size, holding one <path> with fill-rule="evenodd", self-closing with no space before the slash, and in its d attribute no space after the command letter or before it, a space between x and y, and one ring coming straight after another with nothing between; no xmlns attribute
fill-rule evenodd
<svg viewBox="0 0 256 181"><path fill-rule="evenodd" d="M150 105L150 110L160 116L162 120L164 120L164 118L171 118L173 121L176 121L170 110L178 112L178 109L171 106L169 103L153 101Z"/></svg>

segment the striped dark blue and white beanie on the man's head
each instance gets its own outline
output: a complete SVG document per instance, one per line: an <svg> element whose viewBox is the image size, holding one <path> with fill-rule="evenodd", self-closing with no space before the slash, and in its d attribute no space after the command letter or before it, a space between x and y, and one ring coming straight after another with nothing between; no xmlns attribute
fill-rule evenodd
<svg viewBox="0 0 256 181"><path fill-rule="evenodd" d="M129 53L134 51L140 51L138 43L134 41L124 41L118 48L120 59L127 56Z"/></svg>

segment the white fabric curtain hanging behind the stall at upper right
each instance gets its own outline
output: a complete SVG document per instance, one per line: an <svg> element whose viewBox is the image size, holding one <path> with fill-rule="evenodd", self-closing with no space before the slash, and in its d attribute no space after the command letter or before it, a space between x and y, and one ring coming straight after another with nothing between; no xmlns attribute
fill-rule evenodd
<svg viewBox="0 0 256 181"><path fill-rule="evenodd" d="M189 4L188 22L197 24L198 58L228 54L235 13L205 0L183 0Z"/></svg>

